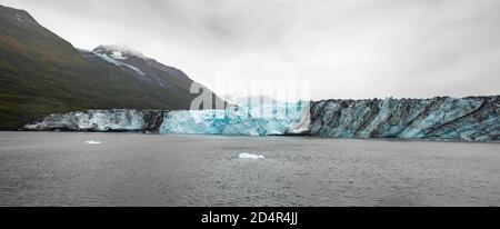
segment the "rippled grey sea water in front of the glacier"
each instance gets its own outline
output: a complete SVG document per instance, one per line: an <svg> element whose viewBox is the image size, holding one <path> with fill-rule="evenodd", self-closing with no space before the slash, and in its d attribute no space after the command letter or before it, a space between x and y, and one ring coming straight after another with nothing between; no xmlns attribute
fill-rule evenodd
<svg viewBox="0 0 500 229"><path fill-rule="evenodd" d="M0 132L0 206L500 206L500 145Z"/></svg>

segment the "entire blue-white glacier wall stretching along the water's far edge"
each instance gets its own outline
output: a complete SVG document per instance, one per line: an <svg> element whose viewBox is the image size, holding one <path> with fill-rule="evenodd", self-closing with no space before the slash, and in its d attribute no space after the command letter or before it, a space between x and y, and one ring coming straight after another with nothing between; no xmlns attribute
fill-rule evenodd
<svg viewBox="0 0 500 229"><path fill-rule="evenodd" d="M88 110L51 114L20 130L498 141L499 112L499 96L331 99L220 110Z"/></svg>

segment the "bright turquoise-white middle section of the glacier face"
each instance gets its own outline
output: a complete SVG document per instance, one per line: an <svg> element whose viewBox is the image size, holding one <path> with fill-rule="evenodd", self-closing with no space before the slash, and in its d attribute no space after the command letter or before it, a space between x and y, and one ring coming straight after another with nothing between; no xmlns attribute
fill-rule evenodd
<svg viewBox="0 0 500 229"><path fill-rule="evenodd" d="M293 132L309 102L239 106L226 110L182 110L166 114L160 133L270 136ZM297 131L297 130L296 130Z"/></svg>

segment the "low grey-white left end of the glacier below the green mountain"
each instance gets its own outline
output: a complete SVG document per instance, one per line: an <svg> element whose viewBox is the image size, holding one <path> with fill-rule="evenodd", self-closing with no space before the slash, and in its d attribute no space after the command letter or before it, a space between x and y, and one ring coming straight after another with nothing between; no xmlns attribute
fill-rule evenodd
<svg viewBox="0 0 500 229"><path fill-rule="evenodd" d="M51 114L39 121L24 125L21 130L63 130L99 132L158 132L164 111L160 110L88 110L63 114Z"/></svg>

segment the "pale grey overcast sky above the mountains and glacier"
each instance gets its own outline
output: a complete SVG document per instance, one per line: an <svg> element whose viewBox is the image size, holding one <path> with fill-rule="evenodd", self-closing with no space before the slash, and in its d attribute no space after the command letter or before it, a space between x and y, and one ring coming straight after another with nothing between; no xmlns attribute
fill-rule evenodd
<svg viewBox="0 0 500 229"><path fill-rule="evenodd" d="M313 99L500 93L499 0L0 0L73 46L128 44L210 84Z"/></svg>

